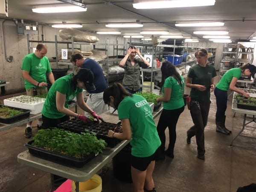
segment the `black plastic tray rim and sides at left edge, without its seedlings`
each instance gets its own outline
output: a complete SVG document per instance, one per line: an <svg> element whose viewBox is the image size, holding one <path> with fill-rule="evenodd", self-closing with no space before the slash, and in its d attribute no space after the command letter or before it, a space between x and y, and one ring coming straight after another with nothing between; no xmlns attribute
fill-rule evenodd
<svg viewBox="0 0 256 192"><path fill-rule="evenodd" d="M5 105L0 105L0 108L2 108L3 106L5 106ZM13 122L19 121L21 119L26 119L30 115L30 110L28 110L28 109L14 108L14 107L9 107L9 106L7 106L7 107L11 108L11 109L22 111L23 113L20 113L18 115L12 116L12 117L0 116L0 122L2 122L2 123L6 123L6 124L13 123Z"/></svg>

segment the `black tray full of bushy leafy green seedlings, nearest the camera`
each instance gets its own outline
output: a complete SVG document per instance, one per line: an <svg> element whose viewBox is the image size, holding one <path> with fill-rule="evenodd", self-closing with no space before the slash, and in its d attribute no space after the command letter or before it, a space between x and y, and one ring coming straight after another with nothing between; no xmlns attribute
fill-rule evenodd
<svg viewBox="0 0 256 192"><path fill-rule="evenodd" d="M106 142L89 132L72 133L59 128L41 129L25 143L29 153L65 166L82 167L106 147Z"/></svg>

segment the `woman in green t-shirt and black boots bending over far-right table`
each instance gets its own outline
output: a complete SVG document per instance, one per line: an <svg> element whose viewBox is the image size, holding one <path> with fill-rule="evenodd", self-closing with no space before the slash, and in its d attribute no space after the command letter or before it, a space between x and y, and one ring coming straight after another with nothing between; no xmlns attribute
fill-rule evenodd
<svg viewBox="0 0 256 192"><path fill-rule="evenodd" d="M215 114L215 122L216 122L216 131L222 134L230 134L232 131L228 130L225 127L225 111L227 109L227 90L231 89L244 95L245 97L250 97L248 93L245 93L243 90L236 87L236 82L241 76L252 76L254 78L254 74L256 73L256 67L252 64L245 64L241 67L233 68L228 70L218 82L214 89L214 94L216 97L216 105L217 111Z"/></svg>

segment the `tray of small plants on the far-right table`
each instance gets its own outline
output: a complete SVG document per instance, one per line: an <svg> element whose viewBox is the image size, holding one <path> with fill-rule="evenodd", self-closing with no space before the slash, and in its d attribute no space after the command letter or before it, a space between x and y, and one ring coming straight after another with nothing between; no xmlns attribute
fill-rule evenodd
<svg viewBox="0 0 256 192"><path fill-rule="evenodd" d="M237 100L237 108L247 109L247 110L256 110L256 97L245 97L241 95L235 96Z"/></svg>

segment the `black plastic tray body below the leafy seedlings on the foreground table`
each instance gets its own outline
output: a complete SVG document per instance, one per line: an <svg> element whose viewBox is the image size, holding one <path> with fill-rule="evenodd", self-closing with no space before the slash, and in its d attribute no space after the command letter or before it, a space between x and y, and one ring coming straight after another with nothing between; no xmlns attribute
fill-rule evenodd
<svg viewBox="0 0 256 192"><path fill-rule="evenodd" d="M89 154L86 157L83 157L81 159L76 157L67 156L64 154L56 153L53 151L46 150L44 148L39 148L31 145L34 142L34 140L29 141L28 143L25 143L24 146L29 149L29 153L36 157L40 157L45 160L49 160L55 163L59 163L61 165L65 166L74 166L77 168L80 168L84 166L88 161L93 159L93 157L96 156L96 154Z"/></svg>

